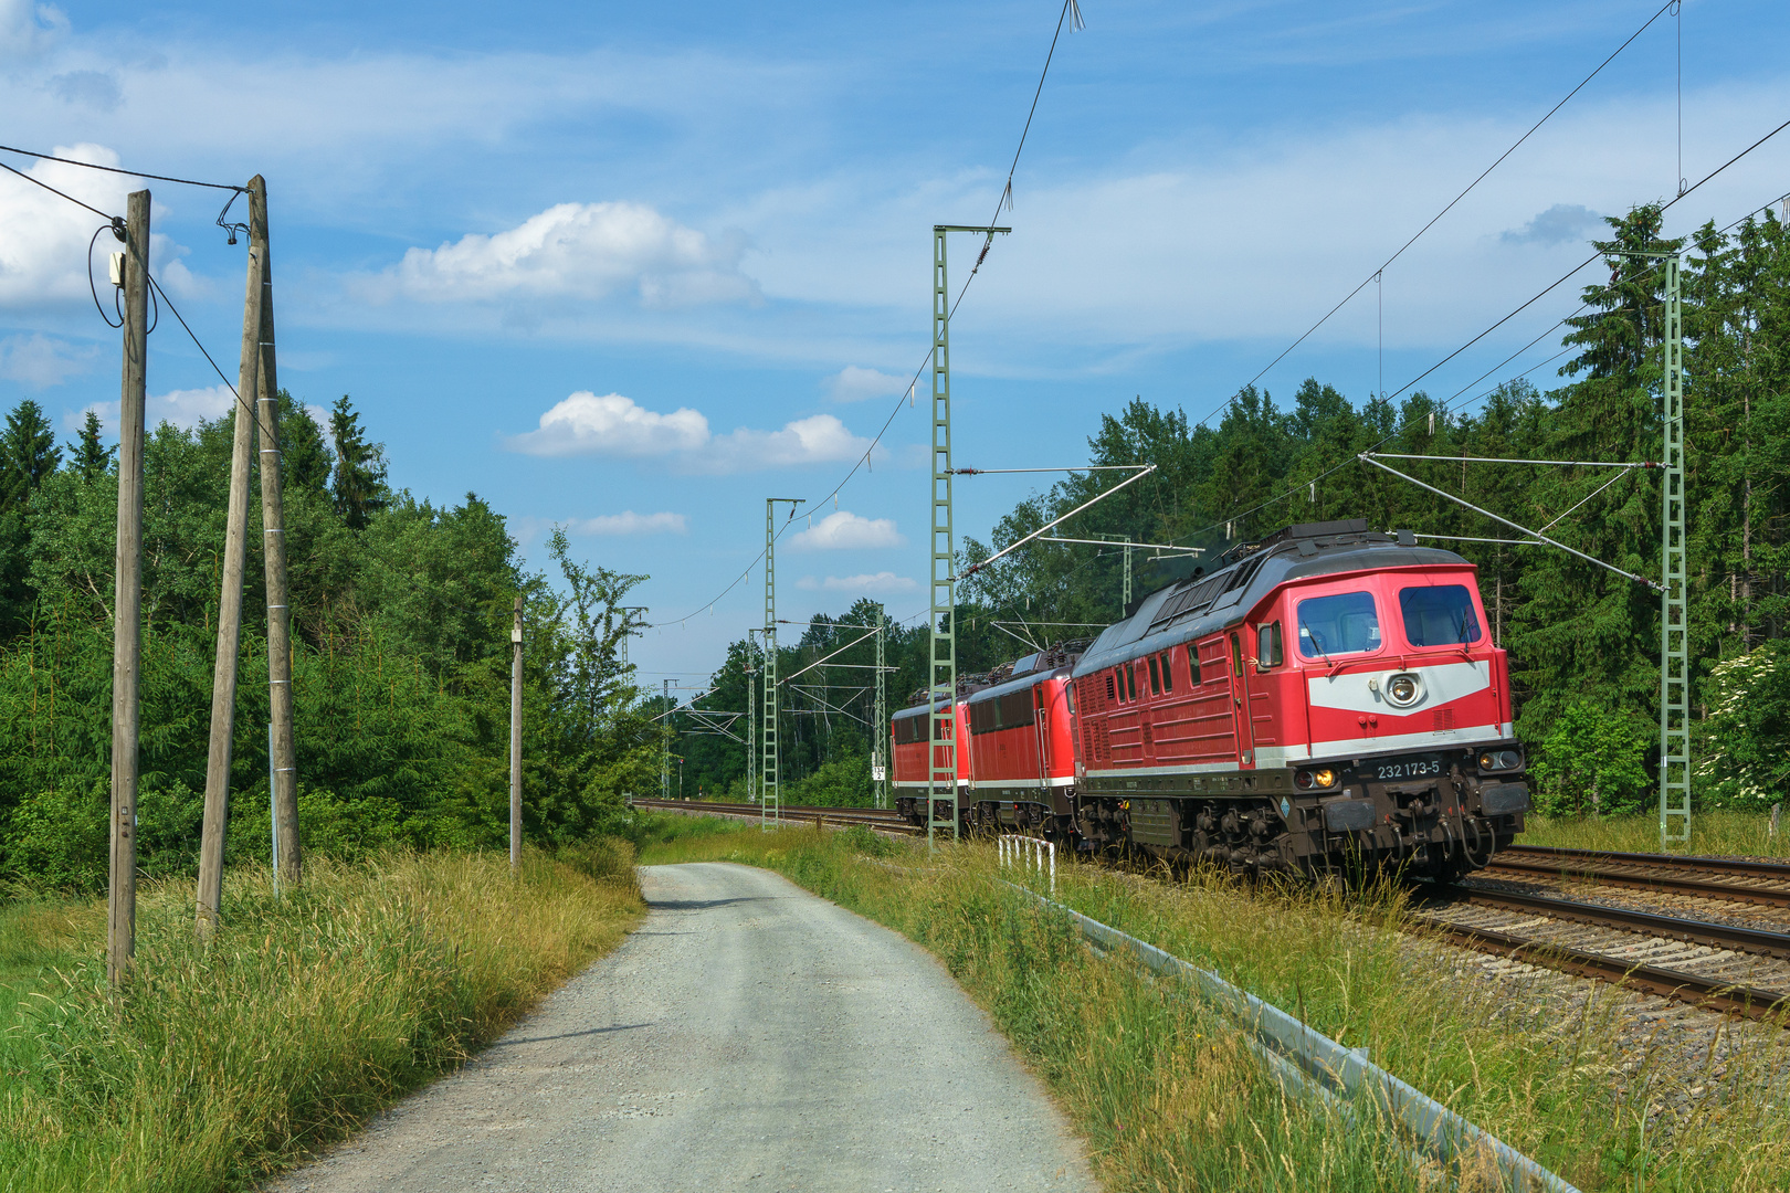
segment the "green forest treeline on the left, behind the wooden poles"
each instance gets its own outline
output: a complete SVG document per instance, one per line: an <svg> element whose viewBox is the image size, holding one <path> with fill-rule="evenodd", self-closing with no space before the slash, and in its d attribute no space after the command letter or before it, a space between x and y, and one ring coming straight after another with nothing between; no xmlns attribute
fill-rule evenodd
<svg viewBox="0 0 1790 1193"><path fill-rule="evenodd" d="M199 850L231 427L227 413L165 422L145 444L138 857L150 875L190 871ZM655 782L659 730L618 649L619 608L644 576L587 567L562 533L551 581L528 572L478 495L435 506L394 490L347 397L319 424L281 392L279 427L306 850L507 841L517 594L526 835L587 835ZM106 880L113 456L91 413L66 447L30 401L0 433L0 880L16 887ZM251 501L233 862L270 853L261 538Z"/></svg>

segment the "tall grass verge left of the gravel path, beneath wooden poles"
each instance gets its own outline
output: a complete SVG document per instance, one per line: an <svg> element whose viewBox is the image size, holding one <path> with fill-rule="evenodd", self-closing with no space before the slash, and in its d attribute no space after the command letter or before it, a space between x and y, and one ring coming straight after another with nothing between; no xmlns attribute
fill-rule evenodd
<svg viewBox="0 0 1790 1193"><path fill-rule="evenodd" d="M0 1189L247 1188L345 1136L619 943L632 853L313 862L285 898L236 871L209 948L154 885L118 994L102 903L0 912Z"/></svg>

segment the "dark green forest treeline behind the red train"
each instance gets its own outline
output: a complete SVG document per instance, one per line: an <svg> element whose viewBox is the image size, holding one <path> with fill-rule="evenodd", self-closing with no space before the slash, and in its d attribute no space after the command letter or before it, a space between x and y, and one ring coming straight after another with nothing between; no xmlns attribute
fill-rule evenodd
<svg viewBox="0 0 1790 1193"><path fill-rule="evenodd" d="M1135 399L1103 415L1088 463L1156 470L1065 522L1061 537L1223 551L1291 522L1362 517L1377 529L1452 537L1434 542L1479 565L1493 631L1511 653L1518 735L1530 744L1541 801L1556 810L1622 812L1656 800L1659 753L1659 594L1552 547L1461 538L1522 538L1507 526L1360 463L1366 451L1446 460L1391 461L1622 571L1659 576L1661 474L1590 461L1661 458L1663 279L1656 258L1688 249L1683 272L1684 419L1692 624L1695 798L1769 807L1790 787L1790 234L1770 211L1722 233L1706 225L1661 240L1659 207L1609 220L1607 279L1582 292L1563 324L1557 374L1513 377L1450 397L1414 392L1351 402L1317 379L1287 401L1244 388L1214 426ZM1545 383L1557 381L1554 388ZM1586 465L1477 463L1572 460ZM1112 485L1074 474L1033 494L993 528L965 538L959 572ZM1133 553L1135 596L1165 563ZM1122 606L1119 547L1029 546L959 585L958 665L981 671L1038 642L1097 633ZM861 631L877 606L816 617L782 649L793 674ZM1020 622L1027 622L1022 626ZM1087 624L1088 628L1083 628ZM925 624L890 640L890 703L925 683ZM745 708L734 644L703 701ZM872 662L872 644L832 665ZM779 721L784 774L802 798L868 798L868 671L809 673L786 685ZM825 685L825 687L820 687ZM825 701L825 706L820 701ZM684 737L686 785L737 794L745 751ZM693 778L695 776L695 778Z"/></svg>

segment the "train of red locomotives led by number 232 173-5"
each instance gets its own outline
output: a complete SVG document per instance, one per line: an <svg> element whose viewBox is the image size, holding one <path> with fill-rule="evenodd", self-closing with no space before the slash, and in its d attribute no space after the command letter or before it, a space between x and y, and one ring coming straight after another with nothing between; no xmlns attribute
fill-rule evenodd
<svg viewBox="0 0 1790 1193"><path fill-rule="evenodd" d="M1144 597L1079 656L967 685L950 721L963 826L1237 869L1453 878L1529 808L1486 626L1473 565L1452 551L1362 520L1287 528ZM924 705L895 714L915 823L925 721Z"/></svg>

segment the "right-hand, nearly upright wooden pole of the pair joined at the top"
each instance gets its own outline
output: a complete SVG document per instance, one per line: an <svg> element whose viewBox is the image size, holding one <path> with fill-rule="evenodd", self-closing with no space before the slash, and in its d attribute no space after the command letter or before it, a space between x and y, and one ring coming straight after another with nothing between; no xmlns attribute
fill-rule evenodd
<svg viewBox="0 0 1790 1193"><path fill-rule="evenodd" d="M292 610L286 605L286 522L279 497L279 376L274 368L274 261L267 250L267 182L249 182L249 245L261 252L261 363L256 413L261 440L261 549L267 560L267 703L272 721L274 821L279 880L299 885L299 766L292 742Z"/></svg>

